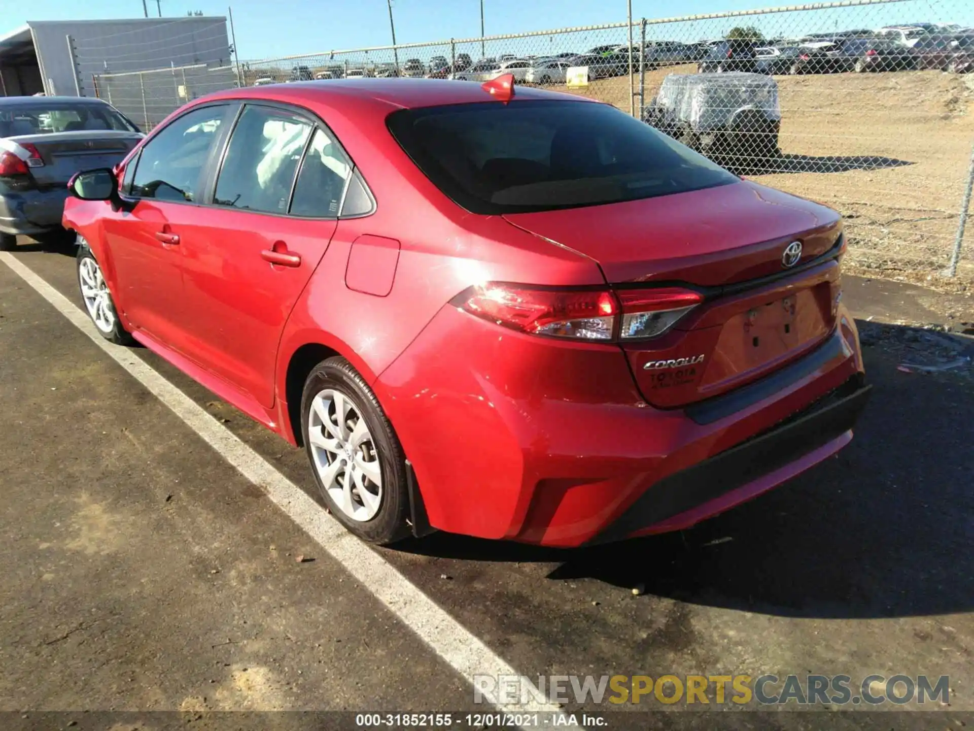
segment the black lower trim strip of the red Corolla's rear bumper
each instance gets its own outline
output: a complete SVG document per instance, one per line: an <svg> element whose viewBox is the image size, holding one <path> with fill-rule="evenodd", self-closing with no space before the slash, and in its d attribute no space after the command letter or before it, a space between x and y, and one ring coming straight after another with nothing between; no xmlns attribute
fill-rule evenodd
<svg viewBox="0 0 974 731"><path fill-rule="evenodd" d="M761 436L656 482L589 543L689 528L790 480L852 439L871 390L854 376Z"/></svg>

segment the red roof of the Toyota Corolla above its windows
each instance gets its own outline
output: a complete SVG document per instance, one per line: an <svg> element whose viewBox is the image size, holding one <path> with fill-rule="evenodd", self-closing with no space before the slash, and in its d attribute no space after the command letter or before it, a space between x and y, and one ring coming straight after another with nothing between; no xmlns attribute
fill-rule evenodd
<svg viewBox="0 0 974 731"><path fill-rule="evenodd" d="M340 107L344 103L372 101L389 108L411 109L444 104L464 104L489 101L493 97L476 81L446 79L326 79L300 81L270 87L230 89L197 99L196 103L220 98L260 98L301 104L326 103ZM581 102L601 103L597 99L572 94L548 92L542 89L518 86L515 99L571 99Z"/></svg>

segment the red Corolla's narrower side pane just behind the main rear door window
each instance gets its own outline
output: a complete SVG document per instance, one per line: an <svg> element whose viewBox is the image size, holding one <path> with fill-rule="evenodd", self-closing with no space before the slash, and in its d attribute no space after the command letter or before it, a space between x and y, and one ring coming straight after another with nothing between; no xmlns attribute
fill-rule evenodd
<svg viewBox="0 0 974 731"><path fill-rule="evenodd" d="M292 215L337 217L352 163L331 135L318 129L305 155L291 201Z"/></svg>

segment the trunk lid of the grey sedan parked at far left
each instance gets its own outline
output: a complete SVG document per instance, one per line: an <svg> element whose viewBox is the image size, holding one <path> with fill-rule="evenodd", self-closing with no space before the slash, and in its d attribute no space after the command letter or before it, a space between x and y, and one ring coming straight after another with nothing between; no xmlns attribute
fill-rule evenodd
<svg viewBox="0 0 974 731"><path fill-rule="evenodd" d="M30 168L39 187L67 183L74 173L94 168L113 168L122 162L142 135L112 130L46 133L10 137L18 144L32 144L44 165Z"/></svg>

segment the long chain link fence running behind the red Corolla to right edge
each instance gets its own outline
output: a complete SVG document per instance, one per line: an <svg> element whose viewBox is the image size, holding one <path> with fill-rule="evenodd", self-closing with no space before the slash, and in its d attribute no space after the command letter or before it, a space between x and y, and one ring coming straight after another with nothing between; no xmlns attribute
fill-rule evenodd
<svg viewBox="0 0 974 731"><path fill-rule="evenodd" d="M253 60L186 84L180 69L98 83L151 128L238 81L510 73L614 104L736 173L838 209L852 271L971 283L971 25L969 0L847 0Z"/></svg>

